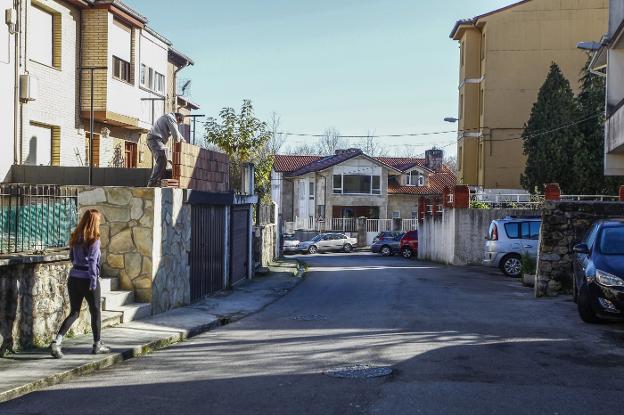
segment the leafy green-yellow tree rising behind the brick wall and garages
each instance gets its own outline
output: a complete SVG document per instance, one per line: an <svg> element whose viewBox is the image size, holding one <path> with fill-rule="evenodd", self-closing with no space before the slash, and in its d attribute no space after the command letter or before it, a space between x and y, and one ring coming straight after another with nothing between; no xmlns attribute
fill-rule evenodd
<svg viewBox="0 0 624 415"><path fill-rule="evenodd" d="M253 162L256 167L255 191L265 202L271 198L271 169L273 157L265 151L271 140L266 123L254 117L251 101L244 100L240 114L233 108L223 108L220 121L206 120L205 140L215 145L230 158L230 183L240 189L243 163Z"/></svg>

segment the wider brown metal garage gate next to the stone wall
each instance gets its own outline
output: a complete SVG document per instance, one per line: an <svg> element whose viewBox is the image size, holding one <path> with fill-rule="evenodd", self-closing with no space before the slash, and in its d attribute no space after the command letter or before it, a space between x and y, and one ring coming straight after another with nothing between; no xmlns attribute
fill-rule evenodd
<svg viewBox="0 0 624 415"><path fill-rule="evenodd" d="M223 286L225 208L191 208L191 301L220 291Z"/></svg>

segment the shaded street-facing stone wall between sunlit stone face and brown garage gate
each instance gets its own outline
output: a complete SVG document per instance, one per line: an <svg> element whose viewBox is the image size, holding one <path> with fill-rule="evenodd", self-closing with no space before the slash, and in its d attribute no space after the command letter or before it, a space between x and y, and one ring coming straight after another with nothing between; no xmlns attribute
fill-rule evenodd
<svg viewBox="0 0 624 415"><path fill-rule="evenodd" d="M191 206L182 189L156 189L152 313L162 313L191 301Z"/></svg>

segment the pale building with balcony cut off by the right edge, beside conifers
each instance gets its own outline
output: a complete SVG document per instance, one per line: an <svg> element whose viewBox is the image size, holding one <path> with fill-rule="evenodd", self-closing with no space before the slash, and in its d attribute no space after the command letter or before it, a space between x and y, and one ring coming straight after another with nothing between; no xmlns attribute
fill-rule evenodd
<svg viewBox="0 0 624 415"><path fill-rule="evenodd" d="M609 31L591 63L594 73L607 77L604 172L624 176L624 2L611 0Z"/></svg>

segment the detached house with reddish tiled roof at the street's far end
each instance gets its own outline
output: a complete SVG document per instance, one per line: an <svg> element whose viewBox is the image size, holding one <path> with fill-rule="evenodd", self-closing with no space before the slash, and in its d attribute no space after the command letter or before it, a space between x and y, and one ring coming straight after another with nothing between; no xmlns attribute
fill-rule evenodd
<svg viewBox="0 0 624 415"><path fill-rule="evenodd" d="M456 184L442 150L425 158L370 157L360 149L329 156L275 155L273 200L285 222L367 217L416 219L421 196Z"/></svg>

